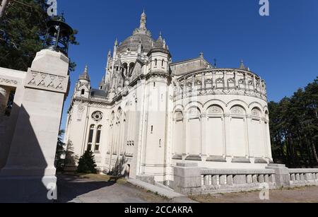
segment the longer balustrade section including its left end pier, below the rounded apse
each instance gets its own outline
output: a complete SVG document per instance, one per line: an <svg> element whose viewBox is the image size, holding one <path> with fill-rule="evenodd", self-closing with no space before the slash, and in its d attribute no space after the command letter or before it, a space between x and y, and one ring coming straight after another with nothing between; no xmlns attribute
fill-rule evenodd
<svg viewBox="0 0 318 217"><path fill-rule="evenodd" d="M182 194L213 194L276 188L275 170L218 170L199 168L196 163L177 163L175 191Z"/></svg>

